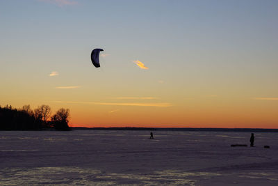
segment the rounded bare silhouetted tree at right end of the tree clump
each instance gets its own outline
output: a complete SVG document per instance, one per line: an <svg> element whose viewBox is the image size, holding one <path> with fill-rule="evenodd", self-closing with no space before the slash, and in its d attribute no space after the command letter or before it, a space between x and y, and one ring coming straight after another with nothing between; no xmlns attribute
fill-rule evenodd
<svg viewBox="0 0 278 186"><path fill-rule="evenodd" d="M56 111L56 114L51 117L51 123L54 125L56 130L70 130L68 125L70 118L70 110L61 108Z"/></svg>

